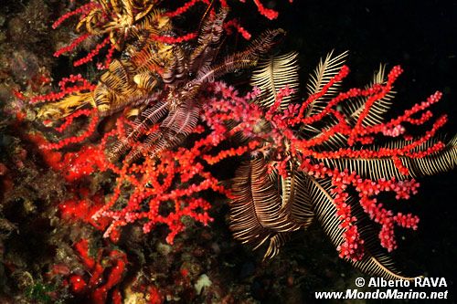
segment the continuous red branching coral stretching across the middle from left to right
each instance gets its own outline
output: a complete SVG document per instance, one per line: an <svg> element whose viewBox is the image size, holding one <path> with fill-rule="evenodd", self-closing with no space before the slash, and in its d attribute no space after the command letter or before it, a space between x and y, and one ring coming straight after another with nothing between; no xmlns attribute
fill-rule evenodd
<svg viewBox="0 0 457 304"><path fill-rule="evenodd" d="M432 114L428 108L440 100L441 93L433 94L427 101L415 105L396 119L373 126L363 126L361 121L367 116L367 111L370 110L376 100L383 98L391 90L393 82L399 77L401 68L395 67L388 74L388 81L385 84L375 84L368 89L349 89L337 95L333 100L329 100L321 112L312 116L304 116L306 108L314 100L324 96L326 91L332 88L335 83L344 79L348 72L347 67L341 68L339 73L321 91L304 100L301 106L291 106L285 111L280 110L279 106L282 103L282 98L290 95L292 89L286 87L280 90L278 98L271 108L263 109L251 102L257 98L258 91L254 90L245 97L239 97L238 92L233 88L227 87L223 83L215 83L209 89L210 96L213 98L207 100L207 97L203 96L204 94L201 97L200 102L203 104L204 111L202 118L205 124L201 124L194 130L200 138L189 148L166 149L154 159L146 157L145 161L140 164L123 162L122 167L116 167L106 160L103 150L108 138L112 135L119 138L125 137L125 128L122 124L126 122L120 120L118 121L118 128L105 134L99 146L85 146L80 152L67 153L58 168L64 171L64 168L68 168L66 163L71 163L69 169L66 169L66 178L69 181L90 174L94 170L109 170L118 175L111 198L92 215L94 221L99 221L101 218L103 221L106 221L106 218L112 220L104 236L112 236L113 233L118 234L119 227L133 222L142 223L144 233L150 232L155 225L167 225L169 233L166 236L166 241L172 244L175 236L185 229L182 222L183 217L192 217L204 225L212 220L207 214L210 204L198 197L199 193L212 189L215 192L229 195L228 191L219 185L218 179L205 170L204 162L214 164L228 157L245 153L263 153L271 155L269 157L274 160L270 163L269 170L277 170L286 176L287 163L293 157L300 161L301 169L310 176L317 179L331 178L333 194L335 195L334 204L337 209L336 216L341 222L341 227L345 230L343 234L345 241L338 246L341 257L354 260L363 257L363 239L357 230L357 218L352 215L351 206L347 203L348 193L346 189L349 186L358 193L359 204L367 215L381 225L380 244L391 251L397 246L394 238L394 226L416 229L419 219L417 216L409 214L394 215L382 204L377 203L375 196L379 192L394 192L397 199L408 199L410 194L417 192L416 189L419 184L414 180L402 182L394 178L377 181L364 179L356 172L340 171L324 165L323 162L316 163L316 161L340 157L390 158L400 173L408 175L409 171L399 161L399 157L406 155L409 158L423 158L440 151L444 146L442 142L435 142L426 150L418 151L416 148L430 140L446 121L445 116L435 121L430 131L427 131L422 137L410 141L402 147L377 150L370 148L367 143L373 142L378 134L388 137L408 136L402 129L402 124L408 122L417 125L429 121ZM366 97L367 104L357 118L355 127L351 127L344 115L335 108L345 100L356 97ZM420 113L420 111L425 111L425 113L420 119L413 119L412 115ZM84 112L83 114L89 113ZM80 113L76 112L73 115L79 116ZM335 117L337 123L324 130L319 136L304 139L297 136L293 130L296 125L313 124L328 116ZM65 129L72 119L73 116L67 118L67 121L59 128ZM228 121L231 121L232 125L233 122L236 122L236 127L228 129ZM269 121L271 129L268 131L259 130L259 121ZM63 139L61 142L47 144L43 147L60 149L73 142L82 142L88 137L87 134L93 131L96 123L95 116L90 122L89 130L82 135ZM207 128L209 131L202 133ZM227 140L237 132L242 132L250 141L238 147L216 153L212 152L220 142ZM314 149L330 140L335 133L347 136L347 148L340 148L337 151ZM360 149L353 148L357 142L364 143L366 146ZM290 152L290 155L284 154L285 152ZM119 209L115 205L121 201L121 189L122 187L126 189L126 184L130 187L130 190L127 190L129 197L126 202L122 202L124 206ZM67 205L71 204L68 203ZM82 212L83 209L81 206L80 211ZM69 214L65 208L63 210L64 214ZM84 220L90 222L87 218ZM91 223L93 225L93 222Z"/></svg>

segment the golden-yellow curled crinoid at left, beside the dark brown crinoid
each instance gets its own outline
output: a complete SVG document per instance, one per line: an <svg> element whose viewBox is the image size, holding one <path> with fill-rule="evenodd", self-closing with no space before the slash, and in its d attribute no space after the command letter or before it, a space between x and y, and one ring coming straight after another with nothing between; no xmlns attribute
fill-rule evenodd
<svg viewBox="0 0 457 304"><path fill-rule="evenodd" d="M125 47L122 58L112 60L94 89L69 93L57 102L46 103L37 117L56 121L84 107L97 108L101 116L120 110L136 112L141 100L160 93L163 75L177 73L176 57L183 52L178 45L151 40L147 31L137 41L143 39L147 41Z"/></svg>

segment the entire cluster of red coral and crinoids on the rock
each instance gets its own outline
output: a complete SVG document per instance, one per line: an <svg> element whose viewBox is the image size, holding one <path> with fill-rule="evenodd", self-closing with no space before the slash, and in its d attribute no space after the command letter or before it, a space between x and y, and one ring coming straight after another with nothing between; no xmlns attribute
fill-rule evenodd
<svg viewBox="0 0 457 304"><path fill-rule="evenodd" d="M276 18L253 2L260 15ZM454 167L455 138L436 137L447 118L430 110L441 92L388 119L402 68L381 66L366 88L342 89L349 74L343 53L322 59L301 98L296 53L271 55L282 29L251 37L242 21L228 18L236 11L225 0L166 5L92 0L54 23L75 18L80 33L55 56L91 40L92 49L73 64L97 60L101 76L93 83L70 75L58 91L31 97L49 134L62 135L30 139L69 185L96 172L115 176L103 193L75 186L73 198L58 206L60 216L92 225L112 242L126 226L141 225L149 234L165 225L165 240L173 244L188 218L213 221L212 191L228 197L233 236L265 246L265 258L277 255L293 231L317 222L339 256L362 271L406 278L386 251L397 247L396 227L417 229L419 217L389 210L379 194L408 200L418 192L415 177ZM175 17L196 12L202 21L195 32L175 28ZM236 32L250 40L248 47L224 54L224 37ZM224 82L239 70L251 71L251 89ZM74 128L81 123L83 131ZM415 126L427 131L412 136ZM224 162L239 163L231 183L215 173ZM91 277L63 271L70 291L95 303L107 297L121 303L129 257L118 249L90 251L87 238L73 248ZM150 293L160 302L157 290Z"/></svg>

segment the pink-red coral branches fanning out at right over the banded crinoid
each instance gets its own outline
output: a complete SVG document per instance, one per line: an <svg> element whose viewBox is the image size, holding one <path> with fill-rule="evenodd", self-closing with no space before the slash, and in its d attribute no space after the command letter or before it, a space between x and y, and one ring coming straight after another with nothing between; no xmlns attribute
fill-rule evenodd
<svg viewBox="0 0 457 304"><path fill-rule="evenodd" d="M278 107L281 104L283 95L291 92L285 88L279 92L279 98L266 112L259 106L250 103L253 95L239 97L237 91L225 85L218 83L214 88L213 94L221 96L210 103L205 104L205 118L208 125L215 130L219 130L224 123L222 121L237 121L238 125L230 132L241 131L250 142L246 146L236 149L219 152L217 156L204 156L208 163L217 162L221 158L233 155L240 155L243 152L250 152L253 155L263 153L265 157L272 159L270 170L277 170L284 177L287 176L286 168L291 156L298 159L301 163L300 169L304 173L313 176L316 179L330 178L333 192L333 202L336 207L336 216L340 221L340 227L344 229L344 242L338 246L340 257L346 257L352 260L360 260L364 254L364 241L360 236L356 222L357 218L353 215L351 205L348 203L349 187L356 190L359 196L359 204L367 215L376 223L381 225L379 232L379 242L391 251L396 248L397 244L394 237L394 227L399 225L405 228L416 229L419 218L416 215L403 215L402 213L394 214L389 211L383 204L377 202L376 196L380 192L393 192L396 198L409 199L410 194L416 194L419 183L413 179L398 181L395 177L391 179L371 180L361 178L356 172L340 171L325 165L322 161L329 163L329 160L345 158L362 158L362 159L382 159L389 158L403 175L409 175L409 170L400 162L400 156L407 156L409 159L420 159L430 154L440 152L444 144L434 142L426 149L419 149L421 144L430 141L441 126L445 123L446 117L441 116L437 119L430 129L423 136L416 140L410 140L409 135L405 134L402 124L408 122L413 125L422 124L429 121L432 114L428 108L431 104L441 98L441 93L437 92L430 98L406 110L399 117L373 126L365 127L362 121L367 117L367 112L373 106L375 101L382 99L391 90L393 82L399 77L401 68L392 68L388 74L388 81L385 84L376 84L368 89L349 89L346 92L338 94L334 99L329 100L322 111L311 116L304 116L305 110L314 100L324 96L326 91L336 82L341 81L347 75L349 69L341 68L340 72L331 79L322 90L311 95L304 100L301 106L291 105L289 109L282 111ZM255 93L254 93L255 95ZM355 127L348 124L345 116L335 110L335 107L345 100L355 97L366 97L367 103L364 110L358 116ZM425 111L420 119L412 118L413 114ZM297 125L313 124L323 121L329 116L333 116L337 123L330 128L324 129L319 136L306 139L292 128ZM259 121L269 121L271 129L259 131ZM223 130L223 129L221 129ZM394 131L396 130L396 131ZM345 135L347 138L347 148L338 150L324 149L324 143L331 140L338 133L340 136ZM383 134L388 137L403 136L409 142L396 148L382 148L367 145L375 140L375 136ZM354 148L356 142L366 144L363 148ZM291 154L287 156L286 152Z"/></svg>

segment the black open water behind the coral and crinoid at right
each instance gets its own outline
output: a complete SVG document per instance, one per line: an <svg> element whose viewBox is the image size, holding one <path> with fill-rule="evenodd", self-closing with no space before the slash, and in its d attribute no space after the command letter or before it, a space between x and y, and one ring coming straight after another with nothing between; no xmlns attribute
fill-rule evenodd
<svg viewBox="0 0 457 304"><path fill-rule="evenodd" d="M443 98L433 110L449 117L441 133L455 134L457 1L295 0L289 5L278 0L270 4L280 11L279 19L271 24L256 18L247 27L252 32L273 26L287 30L282 50L300 52L303 84L319 58L332 49L337 54L350 51L347 88L367 84L379 63L388 68L399 64L405 72L396 84L399 93L392 113L441 90ZM397 229L399 248L394 253L405 273L446 278L452 301L457 298L452 294L457 289L456 176L454 170L420 179L420 193L402 206L420 215L419 230ZM335 290L334 284L328 282L324 289Z"/></svg>

